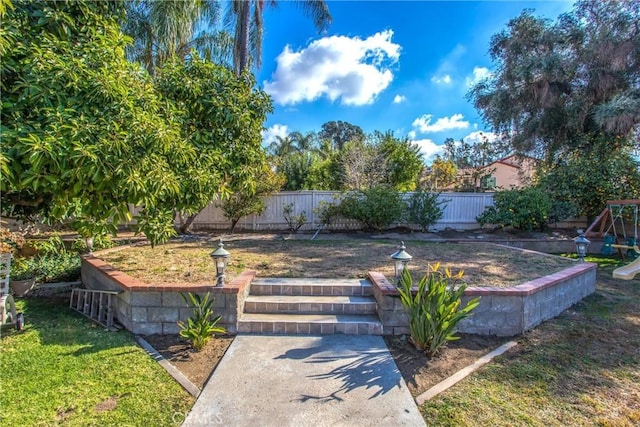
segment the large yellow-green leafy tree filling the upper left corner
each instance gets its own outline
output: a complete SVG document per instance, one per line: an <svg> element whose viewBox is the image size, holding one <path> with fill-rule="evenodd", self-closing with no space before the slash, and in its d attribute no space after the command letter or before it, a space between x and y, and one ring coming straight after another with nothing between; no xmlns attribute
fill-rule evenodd
<svg viewBox="0 0 640 427"><path fill-rule="evenodd" d="M160 200L196 159L140 69L116 2L17 1L2 22L2 209L74 219L85 236L139 225L166 237Z"/></svg>

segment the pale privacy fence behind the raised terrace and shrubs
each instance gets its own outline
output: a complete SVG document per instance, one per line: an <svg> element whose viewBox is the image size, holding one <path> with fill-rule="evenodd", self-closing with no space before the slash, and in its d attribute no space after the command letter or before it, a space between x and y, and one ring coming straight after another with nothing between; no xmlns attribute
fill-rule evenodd
<svg viewBox="0 0 640 427"><path fill-rule="evenodd" d="M251 215L238 222L236 230L247 231L284 231L287 230L287 223L283 215L283 207L292 205L292 214L300 215L304 212L306 223L302 226L303 231L316 230L321 222L318 215L320 202L335 203L340 196L337 191L287 191L272 194L265 200L266 209L262 215ZM412 193L405 193L409 197ZM485 207L493 205L492 193L442 193L440 200L444 215L431 229L443 230L453 228L456 230L469 230L478 228L476 217L480 215ZM384 206L380 206L384 209ZM222 214L222 210L212 203L202 210L193 222L192 228L208 230L225 230L230 226L230 222ZM339 219L337 223L331 224L330 230L356 230L359 224L353 220ZM418 227L416 227L418 228Z"/></svg>

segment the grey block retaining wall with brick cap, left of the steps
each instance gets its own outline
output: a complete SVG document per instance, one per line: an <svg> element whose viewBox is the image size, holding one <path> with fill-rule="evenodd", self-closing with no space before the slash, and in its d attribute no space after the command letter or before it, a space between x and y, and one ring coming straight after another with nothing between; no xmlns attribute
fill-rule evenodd
<svg viewBox="0 0 640 427"><path fill-rule="evenodd" d="M99 254L98 254L99 255ZM176 334L178 321L186 322L192 309L180 296L181 292L215 298L216 315L222 315L218 323L227 332L238 332L238 314L243 312L244 301L255 271L245 271L222 287L193 284L150 285L129 276L94 255L82 259L82 283L87 289L119 292L115 302L118 321L134 334Z"/></svg>

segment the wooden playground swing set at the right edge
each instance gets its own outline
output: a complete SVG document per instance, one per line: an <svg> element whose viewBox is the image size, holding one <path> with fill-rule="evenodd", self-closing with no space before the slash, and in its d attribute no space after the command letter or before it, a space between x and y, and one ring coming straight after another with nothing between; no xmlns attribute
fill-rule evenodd
<svg viewBox="0 0 640 427"><path fill-rule="evenodd" d="M602 239L603 255L613 255L617 251L623 261L631 261L613 271L616 279L631 280L640 273L639 206L640 199L609 200L607 207L584 233L586 237Z"/></svg>

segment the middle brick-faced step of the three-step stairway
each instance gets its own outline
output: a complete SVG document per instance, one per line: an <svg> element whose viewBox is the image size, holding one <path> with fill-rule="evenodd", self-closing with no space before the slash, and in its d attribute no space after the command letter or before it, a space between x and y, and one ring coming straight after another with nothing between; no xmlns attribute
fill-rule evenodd
<svg viewBox="0 0 640 427"><path fill-rule="evenodd" d="M375 314L373 297L307 296L307 295L249 295L244 303L245 313L330 313Z"/></svg>

